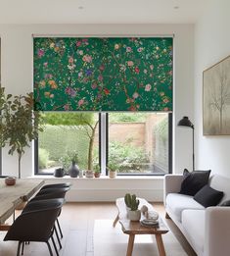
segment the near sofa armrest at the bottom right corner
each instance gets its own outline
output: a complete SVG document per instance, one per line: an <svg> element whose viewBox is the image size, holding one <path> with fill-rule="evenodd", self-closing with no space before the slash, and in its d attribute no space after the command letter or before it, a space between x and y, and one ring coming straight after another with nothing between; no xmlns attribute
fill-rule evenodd
<svg viewBox="0 0 230 256"><path fill-rule="evenodd" d="M229 256L230 207L208 207L206 210L205 256Z"/></svg>

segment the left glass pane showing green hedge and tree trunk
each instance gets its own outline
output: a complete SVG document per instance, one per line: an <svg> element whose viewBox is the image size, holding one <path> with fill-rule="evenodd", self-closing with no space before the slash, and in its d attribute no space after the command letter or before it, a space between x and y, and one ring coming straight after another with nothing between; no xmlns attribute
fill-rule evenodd
<svg viewBox="0 0 230 256"><path fill-rule="evenodd" d="M39 173L53 174L59 167L68 171L75 155L80 169L92 170L99 159L98 114L49 112L44 115L44 131L38 139Z"/></svg>

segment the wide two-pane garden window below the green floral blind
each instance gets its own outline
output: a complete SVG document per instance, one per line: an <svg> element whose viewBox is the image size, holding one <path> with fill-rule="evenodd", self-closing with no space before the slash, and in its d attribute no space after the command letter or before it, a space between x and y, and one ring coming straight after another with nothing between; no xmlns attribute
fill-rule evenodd
<svg viewBox="0 0 230 256"><path fill-rule="evenodd" d="M171 114L49 112L44 120L36 142L37 174L68 171L74 153L80 169L101 164L103 174L112 161L118 175L171 172Z"/></svg>

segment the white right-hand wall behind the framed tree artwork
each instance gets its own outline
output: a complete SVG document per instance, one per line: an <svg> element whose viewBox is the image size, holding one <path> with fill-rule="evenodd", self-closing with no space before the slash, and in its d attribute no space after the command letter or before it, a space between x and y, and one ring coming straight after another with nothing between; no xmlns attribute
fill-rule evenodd
<svg viewBox="0 0 230 256"><path fill-rule="evenodd" d="M230 177L230 136L203 135L203 71L230 55L230 1L210 0L195 26L196 166Z"/></svg>

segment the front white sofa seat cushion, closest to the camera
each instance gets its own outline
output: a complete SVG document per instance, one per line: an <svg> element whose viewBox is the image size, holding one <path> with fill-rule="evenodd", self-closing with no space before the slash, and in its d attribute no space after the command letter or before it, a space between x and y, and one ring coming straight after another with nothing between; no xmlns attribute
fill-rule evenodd
<svg viewBox="0 0 230 256"><path fill-rule="evenodd" d="M182 225L186 237L196 251L204 251L205 243L205 218L206 211L184 210L182 213Z"/></svg>

